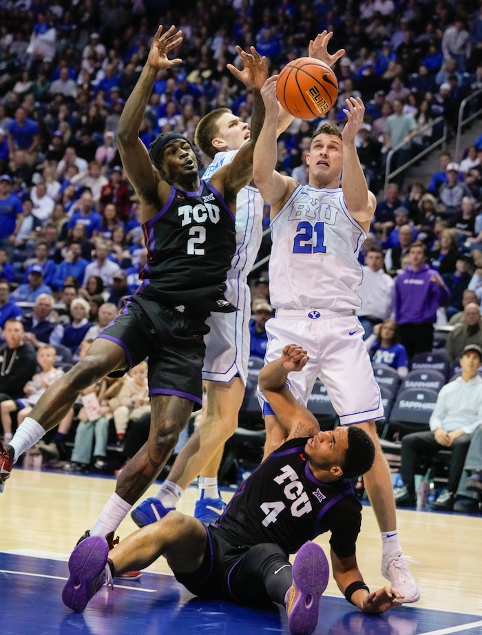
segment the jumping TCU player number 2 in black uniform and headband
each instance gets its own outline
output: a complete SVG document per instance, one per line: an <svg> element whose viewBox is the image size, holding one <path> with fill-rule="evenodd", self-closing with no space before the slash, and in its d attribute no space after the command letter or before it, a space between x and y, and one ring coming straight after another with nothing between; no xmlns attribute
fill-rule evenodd
<svg viewBox="0 0 482 635"><path fill-rule="evenodd" d="M167 57L181 41L174 26L165 33L158 28L118 123L118 148L140 200L148 251L143 284L81 362L45 392L11 444L0 444L3 484L14 461L59 423L84 388L149 357L149 439L121 473L116 492L92 529L98 535L118 527L165 465L193 406L200 408L202 336L209 313L235 311L224 298L224 280L235 250L236 196L251 180L253 147L264 116L260 87L268 76L266 60L254 48L250 54L237 47L244 68L228 65L253 91L251 140L208 184L199 178L196 153L185 137L161 134L148 152L138 136L158 72L182 61Z"/></svg>

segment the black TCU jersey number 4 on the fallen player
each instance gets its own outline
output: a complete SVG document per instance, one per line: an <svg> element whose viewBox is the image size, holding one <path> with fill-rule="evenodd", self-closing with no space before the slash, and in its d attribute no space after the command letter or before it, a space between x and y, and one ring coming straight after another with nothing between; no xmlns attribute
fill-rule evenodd
<svg viewBox="0 0 482 635"><path fill-rule="evenodd" d="M276 543L295 553L308 540L331 531L340 557L355 554L362 506L349 481L317 481L304 457L308 439L291 439L242 483L213 530L231 545Z"/></svg>

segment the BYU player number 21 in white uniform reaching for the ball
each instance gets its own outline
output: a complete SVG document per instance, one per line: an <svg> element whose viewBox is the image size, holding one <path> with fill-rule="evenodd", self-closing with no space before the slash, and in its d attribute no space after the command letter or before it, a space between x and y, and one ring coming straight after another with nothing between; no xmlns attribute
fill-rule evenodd
<svg viewBox="0 0 482 635"><path fill-rule="evenodd" d="M399 545L390 469L375 426L384 410L362 340L364 331L354 315L360 306L356 289L362 282L357 254L376 205L355 148L365 107L361 99L349 98L342 133L333 124L313 133L306 157L308 185L301 186L275 171L276 79L271 77L262 87L266 115L253 160L255 184L271 205L270 297L276 314L266 324L266 362L279 357L296 333L311 358L300 377L290 379L296 398L306 405L320 377L342 425L359 425L372 437L375 461L364 482L381 530L381 572L405 602L415 602L419 588ZM286 436L270 410L265 402L266 452Z"/></svg>

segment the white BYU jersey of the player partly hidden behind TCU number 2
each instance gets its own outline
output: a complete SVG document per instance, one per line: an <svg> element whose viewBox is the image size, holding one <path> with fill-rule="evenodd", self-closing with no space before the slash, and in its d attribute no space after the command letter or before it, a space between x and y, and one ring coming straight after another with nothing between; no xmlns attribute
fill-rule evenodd
<svg viewBox="0 0 482 635"><path fill-rule="evenodd" d="M202 175L209 180L214 172L227 163L231 163L238 150L217 152ZM264 202L259 189L247 185L238 192L236 199L236 251L231 259L231 270L242 271L246 275L251 271L262 237L262 218Z"/></svg>

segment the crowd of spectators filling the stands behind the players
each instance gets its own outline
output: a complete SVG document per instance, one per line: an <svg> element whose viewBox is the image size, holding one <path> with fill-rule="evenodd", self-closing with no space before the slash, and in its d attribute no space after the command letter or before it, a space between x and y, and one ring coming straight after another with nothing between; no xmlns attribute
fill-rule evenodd
<svg viewBox="0 0 482 635"><path fill-rule="evenodd" d="M193 140L200 118L216 107L249 121L251 95L227 70L238 62L236 44L255 45L274 73L305 56L310 37L333 30L331 49L346 52L334 67L339 98L325 118L343 126L344 99L362 97L357 151L379 198L360 255L359 318L373 362L403 377L413 355L444 345L434 341L434 324L453 326L446 348L454 363L465 346L482 344L482 136L460 163L441 152L429 183L406 183L401 173L383 187L390 149L406 142L393 157L395 169L441 134L437 118L454 132L461 101L482 88L482 1L0 0L0 392L10 404L32 379L22 376L18 395L3 385L20 349L50 344L59 358L62 346L72 354L67 366L74 363L82 342L140 283L147 251L116 125L158 23L174 23L185 41L176 52L182 64L156 79L140 129L147 147L170 130ZM309 139L321 122L295 119L280 136L279 171L306 183ZM267 254L268 238L260 258ZM251 353L263 357L273 309L264 275L252 287ZM12 318L21 333L10 333ZM109 412L122 444L125 417L146 404L129 397L132 404L119 405L116 416L117 397L100 397L103 410L97 419L83 413L81 433L97 430L102 445ZM16 416L3 410L2 422ZM78 441L82 465L91 460L85 439L92 436ZM95 455L98 467L103 460Z"/></svg>

